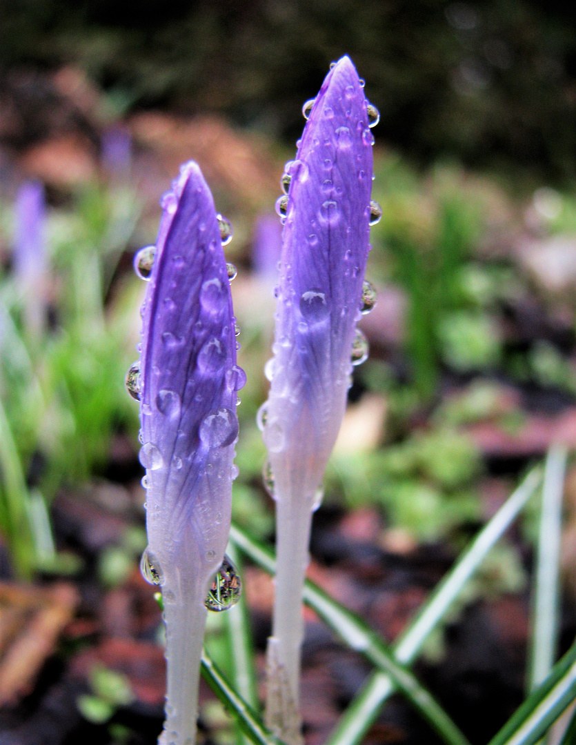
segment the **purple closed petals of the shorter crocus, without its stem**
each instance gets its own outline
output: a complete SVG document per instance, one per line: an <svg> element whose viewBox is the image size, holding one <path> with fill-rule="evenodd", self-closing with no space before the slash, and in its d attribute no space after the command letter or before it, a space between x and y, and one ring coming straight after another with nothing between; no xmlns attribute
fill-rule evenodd
<svg viewBox="0 0 576 745"><path fill-rule="evenodd" d="M227 542L244 373L214 202L194 162L163 203L140 368L148 540L165 571L186 551L204 575Z"/></svg>

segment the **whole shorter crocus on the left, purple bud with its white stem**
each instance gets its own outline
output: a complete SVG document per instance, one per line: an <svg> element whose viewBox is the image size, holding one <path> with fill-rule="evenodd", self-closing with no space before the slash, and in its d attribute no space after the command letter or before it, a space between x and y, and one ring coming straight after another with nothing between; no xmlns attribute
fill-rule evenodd
<svg viewBox="0 0 576 745"><path fill-rule="evenodd" d="M146 468L145 577L162 590L168 692L162 745L192 745L206 605L230 528L232 460L238 435L235 321L221 229L212 194L194 162L165 195L155 247L136 254L150 285L142 359L127 375L140 399ZM234 592L224 562L225 594ZM227 585L227 583L229 583ZM220 589L220 587L219 587ZM229 592L230 591L230 592ZM212 598L212 600L210 600Z"/></svg>

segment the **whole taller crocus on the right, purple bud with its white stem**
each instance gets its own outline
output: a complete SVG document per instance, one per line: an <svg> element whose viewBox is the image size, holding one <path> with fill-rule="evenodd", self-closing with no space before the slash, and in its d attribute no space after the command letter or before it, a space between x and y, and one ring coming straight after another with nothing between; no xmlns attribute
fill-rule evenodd
<svg viewBox="0 0 576 745"><path fill-rule="evenodd" d="M348 57L324 80L286 166L285 221L270 395L259 413L276 499L276 598L268 645L268 725L300 740L301 598L311 513L344 416L371 222L373 136ZM353 352L353 348L356 350Z"/></svg>

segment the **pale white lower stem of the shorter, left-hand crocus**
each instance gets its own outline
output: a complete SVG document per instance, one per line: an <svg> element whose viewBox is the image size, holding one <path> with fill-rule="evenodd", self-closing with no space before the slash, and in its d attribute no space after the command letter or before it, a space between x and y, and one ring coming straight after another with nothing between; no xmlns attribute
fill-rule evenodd
<svg viewBox="0 0 576 745"><path fill-rule="evenodd" d="M198 717L200 659L206 626L206 592L194 586L171 600L171 588L162 587L166 626L166 706L159 745L194 745Z"/></svg>

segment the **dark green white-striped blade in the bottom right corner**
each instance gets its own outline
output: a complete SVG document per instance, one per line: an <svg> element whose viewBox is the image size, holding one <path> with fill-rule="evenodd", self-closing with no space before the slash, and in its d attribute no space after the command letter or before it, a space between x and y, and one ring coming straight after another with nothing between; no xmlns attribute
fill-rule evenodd
<svg viewBox="0 0 576 745"><path fill-rule="evenodd" d="M534 745L575 697L576 644L572 644L489 745Z"/></svg>

